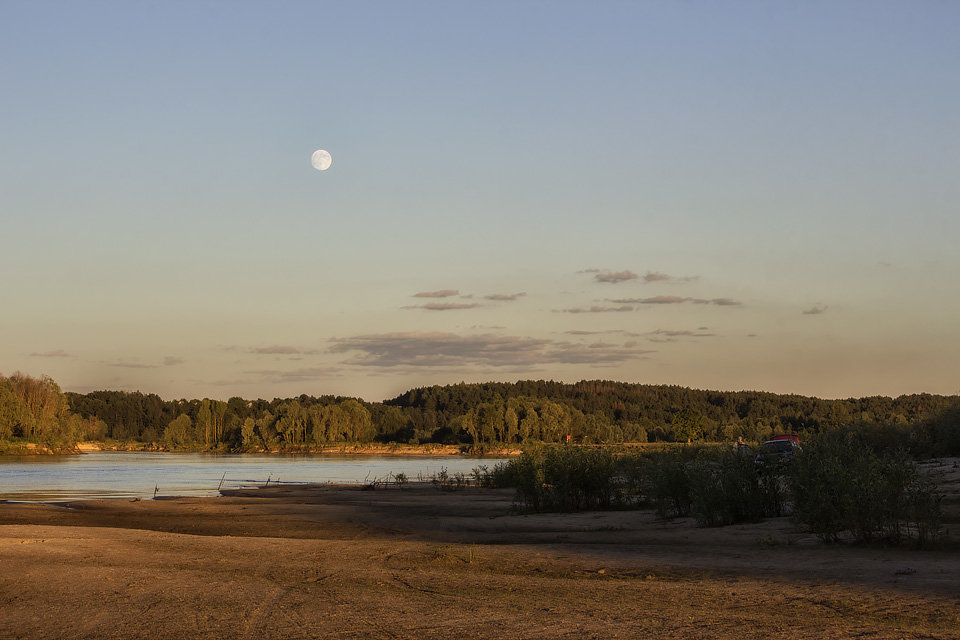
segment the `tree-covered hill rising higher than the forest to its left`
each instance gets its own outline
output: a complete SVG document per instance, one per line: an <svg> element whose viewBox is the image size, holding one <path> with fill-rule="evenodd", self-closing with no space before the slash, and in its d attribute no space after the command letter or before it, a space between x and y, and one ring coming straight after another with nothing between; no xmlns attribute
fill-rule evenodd
<svg viewBox="0 0 960 640"><path fill-rule="evenodd" d="M757 391L703 391L608 381L553 381L434 386L385 402L410 414L418 433L447 425L481 442L762 440L773 433L881 425L904 431L958 406L930 394L822 400ZM534 415L534 413L536 415Z"/></svg>

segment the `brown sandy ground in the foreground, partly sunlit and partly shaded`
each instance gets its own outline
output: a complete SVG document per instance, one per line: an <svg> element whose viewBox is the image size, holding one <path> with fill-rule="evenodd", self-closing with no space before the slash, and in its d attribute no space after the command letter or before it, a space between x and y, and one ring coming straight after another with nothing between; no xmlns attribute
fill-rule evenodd
<svg viewBox="0 0 960 640"><path fill-rule="evenodd" d="M960 638L953 545L519 515L509 491L230 493L0 504L0 638Z"/></svg>

